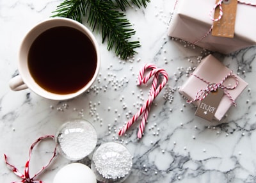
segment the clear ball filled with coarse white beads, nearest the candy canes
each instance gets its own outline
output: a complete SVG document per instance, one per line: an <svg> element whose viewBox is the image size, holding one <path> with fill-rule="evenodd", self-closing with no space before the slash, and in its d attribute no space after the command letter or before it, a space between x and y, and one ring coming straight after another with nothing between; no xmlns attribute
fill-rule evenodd
<svg viewBox="0 0 256 183"><path fill-rule="evenodd" d="M92 157L92 170L102 182L124 182L131 173L132 155L124 145L108 142L100 145Z"/></svg>

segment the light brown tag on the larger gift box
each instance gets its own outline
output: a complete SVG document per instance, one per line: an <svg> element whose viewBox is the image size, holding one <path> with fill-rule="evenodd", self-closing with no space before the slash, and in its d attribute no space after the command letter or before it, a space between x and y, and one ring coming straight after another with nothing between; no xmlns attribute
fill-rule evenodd
<svg viewBox="0 0 256 183"><path fill-rule="evenodd" d="M219 1L216 0L216 3ZM237 0L223 0L221 6L223 15L220 20L213 22L212 36L234 38ZM214 19L218 19L219 16L220 7L218 6L214 12Z"/></svg>

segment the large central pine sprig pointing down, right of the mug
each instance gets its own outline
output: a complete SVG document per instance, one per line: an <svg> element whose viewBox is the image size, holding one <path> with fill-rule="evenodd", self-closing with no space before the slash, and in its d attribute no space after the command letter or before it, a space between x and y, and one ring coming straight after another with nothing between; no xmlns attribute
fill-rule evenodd
<svg viewBox="0 0 256 183"><path fill-rule="evenodd" d="M131 24L125 19L124 13L114 10L115 5L106 1L88 0L88 23L93 29L101 31L102 42L108 39L108 50L113 49L122 59L134 55L135 48L140 47L139 42L129 42L135 31L129 27Z"/></svg>

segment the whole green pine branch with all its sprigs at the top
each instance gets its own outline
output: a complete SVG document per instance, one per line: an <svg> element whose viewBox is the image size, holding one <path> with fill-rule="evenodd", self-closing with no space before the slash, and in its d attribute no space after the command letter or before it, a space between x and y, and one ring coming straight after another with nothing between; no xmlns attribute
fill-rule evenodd
<svg viewBox="0 0 256 183"><path fill-rule="evenodd" d="M116 55L122 59L133 56L134 49L140 47L140 42L130 42L129 39L135 34L131 28L129 20L125 19L125 14L119 12L131 3L140 8L146 7L150 0L65 0L61 3L52 17L67 17L82 22L86 17L89 26L97 33L102 33L102 42L108 40L108 50L115 47ZM83 17L82 17L83 16Z"/></svg>

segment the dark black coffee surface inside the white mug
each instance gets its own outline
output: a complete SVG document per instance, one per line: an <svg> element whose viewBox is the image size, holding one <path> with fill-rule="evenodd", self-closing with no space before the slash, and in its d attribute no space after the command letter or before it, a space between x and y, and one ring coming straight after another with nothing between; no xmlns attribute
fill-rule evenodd
<svg viewBox="0 0 256 183"><path fill-rule="evenodd" d="M68 94L83 88L93 77L97 54L92 41L69 27L51 28L31 45L28 67L45 90Z"/></svg>

